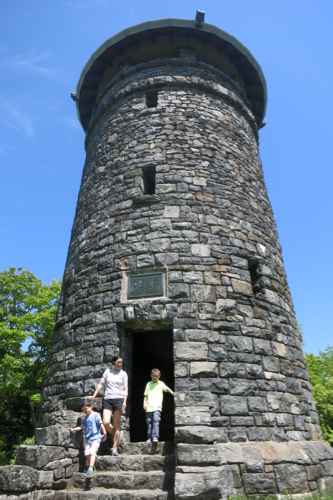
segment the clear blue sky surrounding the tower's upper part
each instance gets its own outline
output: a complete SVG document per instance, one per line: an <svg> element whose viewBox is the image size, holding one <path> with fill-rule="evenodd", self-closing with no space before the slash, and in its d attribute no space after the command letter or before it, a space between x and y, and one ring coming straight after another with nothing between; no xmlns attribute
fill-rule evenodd
<svg viewBox="0 0 333 500"><path fill-rule="evenodd" d="M63 274L85 158L70 91L91 54L129 26L196 9L265 74L260 154L305 350L317 353L333 344L331 0L2 2L0 271Z"/></svg>

